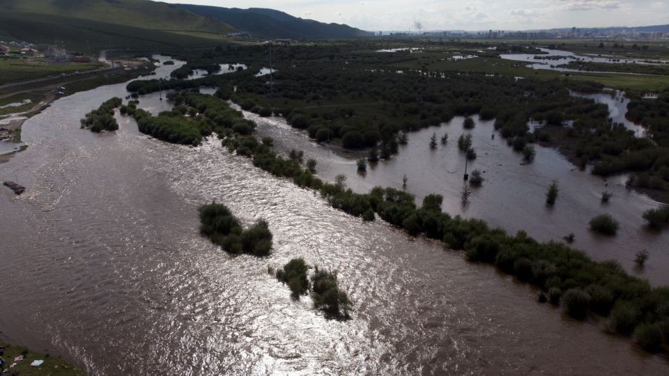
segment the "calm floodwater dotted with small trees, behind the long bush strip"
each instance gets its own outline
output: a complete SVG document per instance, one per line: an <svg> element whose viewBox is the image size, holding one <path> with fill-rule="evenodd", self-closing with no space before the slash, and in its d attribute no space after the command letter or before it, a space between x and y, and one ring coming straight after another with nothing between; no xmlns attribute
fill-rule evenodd
<svg viewBox="0 0 669 376"><path fill-rule="evenodd" d="M603 95L602 100L605 99ZM661 204L627 189L626 175L603 179L579 171L552 148L535 145L535 161L525 164L521 153L514 152L493 130L493 120L475 118L476 127L465 130L464 119L456 117L440 127L411 132L408 145L400 146L398 155L388 162L368 166L367 173L360 175L356 162L366 156L366 152L307 141L306 132L292 129L281 118L260 118L247 111L245 116L256 120L259 134L272 136L279 150L286 154L291 149L304 150L305 160L316 159L317 174L325 180L334 181L336 175L344 173L348 187L366 193L375 186L401 189L406 175L406 189L415 194L419 204L428 194L441 194L445 212L484 219L509 233L526 230L542 241L562 241L562 237L574 233L573 246L583 249L595 260L618 260L631 274L655 284L669 285L669 233L649 230L642 218L643 212ZM436 150L431 150L432 134L436 134L438 141L443 134L448 134L447 144L439 143ZM485 178L482 187L470 189L466 205L462 203L466 157L457 147L461 134L472 134L477 152L477 159L468 163L468 171L479 169ZM551 208L545 203L546 191L553 180L557 180L560 193ZM613 194L609 203L601 203L604 191ZM615 237L604 237L589 229L590 219L605 213L620 222ZM649 251L652 261L639 269L634 258L643 249Z"/></svg>

